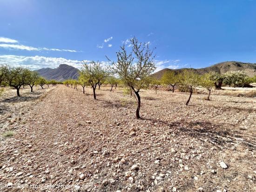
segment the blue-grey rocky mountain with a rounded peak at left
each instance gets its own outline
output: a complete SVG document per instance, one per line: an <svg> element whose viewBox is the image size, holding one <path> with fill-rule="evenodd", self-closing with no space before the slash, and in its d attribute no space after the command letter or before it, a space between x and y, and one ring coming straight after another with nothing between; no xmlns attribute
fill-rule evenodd
<svg viewBox="0 0 256 192"><path fill-rule="evenodd" d="M79 69L69 66L66 64L61 64L59 67L52 68L42 68L36 70L45 79L54 79L57 81L63 81L66 79L78 79Z"/></svg>

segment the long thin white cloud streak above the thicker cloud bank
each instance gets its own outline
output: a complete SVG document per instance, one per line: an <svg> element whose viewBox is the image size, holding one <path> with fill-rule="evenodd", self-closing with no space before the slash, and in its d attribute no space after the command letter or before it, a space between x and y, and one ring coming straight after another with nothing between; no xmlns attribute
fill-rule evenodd
<svg viewBox="0 0 256 192"><path fill-rule="evenodd" d="M19 44L0 44L1 48L4 49L18 49L18 50L26 50L26 51L64 51L64 52L78 52L70 49L52 49L52 48L41 48L41 47L33 47L33 46L24 46Z"/></svg>

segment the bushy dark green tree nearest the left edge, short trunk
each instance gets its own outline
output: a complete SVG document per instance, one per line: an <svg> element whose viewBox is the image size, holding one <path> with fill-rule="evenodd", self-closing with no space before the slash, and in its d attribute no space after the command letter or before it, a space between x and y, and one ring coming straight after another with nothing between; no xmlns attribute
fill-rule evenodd
<svg viewBox="0 0 256 192"><path fill-rule="evenodd" d="M20 87L27 85L27 77L30 73L29 69L24 67L6 67L4 81L17 90L17 96L20 97Z"/></svg>

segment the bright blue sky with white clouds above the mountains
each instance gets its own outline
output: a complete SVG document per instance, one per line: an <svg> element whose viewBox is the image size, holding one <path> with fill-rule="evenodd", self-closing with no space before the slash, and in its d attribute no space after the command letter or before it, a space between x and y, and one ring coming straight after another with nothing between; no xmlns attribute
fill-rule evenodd
<svg viewBox="0 0 256 192"><path fill-rule="evenodd" d="M256 0L0 0L0 63L115 60L133 36L156 47L157 70L256 63Z"/></svg>

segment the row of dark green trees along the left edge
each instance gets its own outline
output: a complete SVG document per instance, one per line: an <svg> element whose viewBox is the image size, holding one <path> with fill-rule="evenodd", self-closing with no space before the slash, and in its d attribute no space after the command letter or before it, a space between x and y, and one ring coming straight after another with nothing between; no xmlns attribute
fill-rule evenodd
<svg viewBox="0 0 256 192"><path fill-rule="evenodd" d="M55 80L46 80L40 77L39 73L31 71L28 68L18 66L11 67L8 65L0 65L0 85L6 84L16 89L17 96L20 97L20 87L30 86L31 92L33 92L34 85L39 85L43 89L44 85L49 86L56 85L60 82Z"/></svg>

